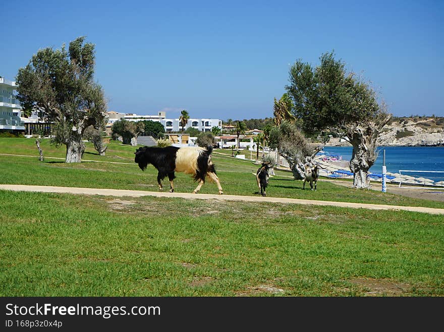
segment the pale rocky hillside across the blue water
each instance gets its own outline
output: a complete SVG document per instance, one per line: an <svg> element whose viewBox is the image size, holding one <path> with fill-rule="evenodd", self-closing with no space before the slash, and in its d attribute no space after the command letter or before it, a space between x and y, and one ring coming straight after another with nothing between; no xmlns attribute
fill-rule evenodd
<svg viewBox="0 0 444 332"><path fill-rule="evenodd" d="M379 146L444 146L444 118L394 118L384 126Z"/></svg>

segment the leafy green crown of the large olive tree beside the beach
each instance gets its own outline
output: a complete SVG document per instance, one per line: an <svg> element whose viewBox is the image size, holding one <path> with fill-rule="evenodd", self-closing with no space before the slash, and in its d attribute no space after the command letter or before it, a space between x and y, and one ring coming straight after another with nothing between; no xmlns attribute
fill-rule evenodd
<svg viewBox="0 0 444 332"><path fill-rule="evenodd" d="M333 52L319 59L315 68L298 60L290 69L286 86L293 99L293 113L303 120L306 132L326 128L343 132L353 123L386 118L386 108L378 104L376 92L355 73L347 73L345 63L335 60Z"/></svg>

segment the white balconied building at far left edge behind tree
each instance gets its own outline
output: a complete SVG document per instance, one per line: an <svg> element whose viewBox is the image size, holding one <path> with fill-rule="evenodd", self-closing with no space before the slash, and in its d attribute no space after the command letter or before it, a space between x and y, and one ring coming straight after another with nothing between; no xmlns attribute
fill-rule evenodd
<svg viewBox="0 0 444 332"><path fill-rule="evenodd" d="M25 125L20 119L20 102L14 94L16 89L16 82L0 77L0 131L25 130Z"/></svg>

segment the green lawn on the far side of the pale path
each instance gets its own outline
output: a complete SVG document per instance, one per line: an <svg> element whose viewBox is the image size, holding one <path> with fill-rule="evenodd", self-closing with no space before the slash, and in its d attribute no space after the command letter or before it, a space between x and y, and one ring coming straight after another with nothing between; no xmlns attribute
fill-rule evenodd
<svg viewBox="0 0 444 332"><path fill-rule="evenodd" d="M64 147L57 149L50 146L47 139L41 143L45 161L39 162L34 143L33 139L27 138L0 138L0 183L158 191L157 170L148 165L142 172L134 163L134 147L112 142L108 145L106 155L99 156L88 143L83 162L67 164L64 162ZM231 151L216 150L213 161L225 195L258 195L255 178L258 165L231 157ZM316 192L303 191L303 181L295 181L290 172L276 170L275 173L276 176L270 178L267 187L267 195L270 197L442 208L442 202L356 190L334 184L325 178L319 179ZM176 176L175 191L178 193L191 193L197 186L189 175L176 173ZM164 181L164 185L169 188L168 179ZM200 192L217 194L217 187L214 183L207 182Z"/></svg>

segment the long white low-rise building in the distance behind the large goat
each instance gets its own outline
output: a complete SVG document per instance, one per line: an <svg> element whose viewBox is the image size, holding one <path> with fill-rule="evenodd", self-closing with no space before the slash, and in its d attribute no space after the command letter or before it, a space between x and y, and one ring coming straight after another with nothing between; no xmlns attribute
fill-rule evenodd
<svg viewBox="0 0 444 332"><path fill-rule="evenodd" d="M151 120L155 122L160 122L165 128L165 132L181 131L182 126L180 125L179 119L170 119L166 117L165 112L158 112L157 115L137 115L134 113L118 113L118 112L108 112L108 124L107 126L112 126L115 121L125 119L128 121L143 121ZM189 127L196 128L199 131L211 131L212 127L218 127L222 129L222 120L219 119L196 119L190 118L184 129Z"/></svg>

